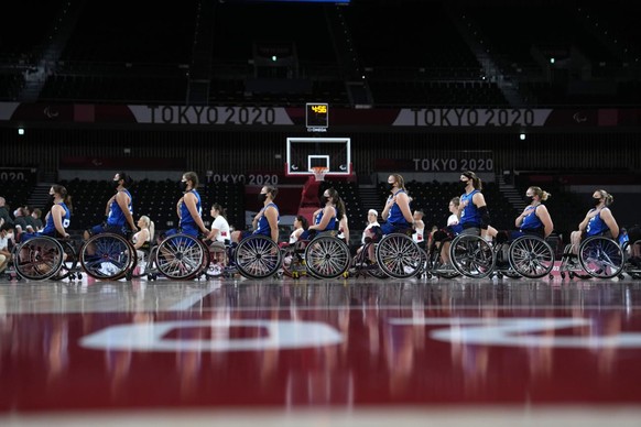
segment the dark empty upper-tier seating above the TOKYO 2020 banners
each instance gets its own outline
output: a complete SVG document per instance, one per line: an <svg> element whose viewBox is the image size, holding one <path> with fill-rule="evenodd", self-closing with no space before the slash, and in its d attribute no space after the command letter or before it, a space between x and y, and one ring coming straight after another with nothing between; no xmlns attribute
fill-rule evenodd
<svg viewBox="0 0 641 427"><path fill-rule="evenodd" d="M350 106L355 100L346 84L355 79L365 81L376 107L507 106L501 79L518 81L522 102L531 107L638 102L639 30L634 6L624 2L616 8L504 1L219 2L206 10L195 0L182 4L175 10L118 0L79 9L75 25L68 23L68 40L48 46L61 55L43 74L40 100L182 105L197 73L211 105L300 106L323 99ZM11 8L9 14L24 14L29 2ZM51 37L52 17L63 2L47 2L43 13L39 8L37 19L0 30L2 100L20 97L29 67L43 72L39 48L46 47L41 42ZM252 18L254 24L246 25ZM206 52L195 50L204 24L211 36ZM341 43L333 43L337 37ZM475 50L470 37L485 51ZM15 42L2 42L9 39ZM271 64L271 56L264 56L270 43L291 46L285 54L291 57L276 54ZM268 51L257 53L260 44ZM497 65L498 76L486 78L488 61ZM196 70L196 63L206 65ZM305 84L250 85L272 74L276 80ZM604 78L611 84L606 91ZM579 90L572 90L573 84Z"/></svg>

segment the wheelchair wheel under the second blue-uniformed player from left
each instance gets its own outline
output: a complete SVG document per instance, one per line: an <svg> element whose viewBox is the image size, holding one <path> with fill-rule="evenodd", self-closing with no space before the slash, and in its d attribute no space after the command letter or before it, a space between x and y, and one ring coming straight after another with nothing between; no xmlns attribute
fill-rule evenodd
<svg viewBox="0 0 641 427"><path fill-rule="evenodd" d="M118 281L135 267L135 250L120 234L91 236L80 248L80 266L91 277Z"/></svg>

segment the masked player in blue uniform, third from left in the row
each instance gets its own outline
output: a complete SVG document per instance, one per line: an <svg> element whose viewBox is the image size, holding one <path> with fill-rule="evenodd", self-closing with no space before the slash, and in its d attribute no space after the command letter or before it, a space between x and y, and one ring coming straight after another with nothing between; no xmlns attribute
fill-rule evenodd
<svg viewBox="0 0 641 427"><path fill-rule="evenodd" d="M200 195L198 194L198 175L195 172L185 172L180 183L183 197L176 204L178 214L178 228L167 230L165 236L177 233L189 234L197 238L198 234L208 236L209 230L205 227L200 217L203 208L200 207Z"/></svg>

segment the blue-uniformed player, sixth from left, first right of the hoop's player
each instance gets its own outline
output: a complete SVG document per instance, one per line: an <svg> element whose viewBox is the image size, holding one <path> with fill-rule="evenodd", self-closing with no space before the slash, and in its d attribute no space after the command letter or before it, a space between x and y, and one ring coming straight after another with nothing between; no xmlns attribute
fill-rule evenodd
<svg viewBox="0 0 641 427"><path fill-rule="evenodd" d="M387 221L381 226L381 231L383 234L409 233L414 226L414 217L410 209L410 196L405 189L403 177L399 174L391 174L388 176L387 188L391 194L381 214L383 220Z"/></svg>

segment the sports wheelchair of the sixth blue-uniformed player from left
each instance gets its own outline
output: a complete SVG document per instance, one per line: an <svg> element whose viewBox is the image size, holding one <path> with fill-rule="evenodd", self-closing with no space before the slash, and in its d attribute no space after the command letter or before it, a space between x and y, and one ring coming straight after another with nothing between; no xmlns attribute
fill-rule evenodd
<svg viewBox="0 0 641 427"><path fill-rule="evenodd" d="M378 240L378 241L377 241ZM376 262L371 259L373 250ZM377 278L410 278L423 271L425 251L412 240L412 230L368 240L354 258L356 276L371 275Z"/></svg>

